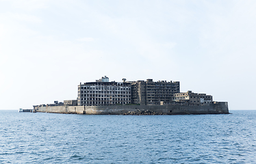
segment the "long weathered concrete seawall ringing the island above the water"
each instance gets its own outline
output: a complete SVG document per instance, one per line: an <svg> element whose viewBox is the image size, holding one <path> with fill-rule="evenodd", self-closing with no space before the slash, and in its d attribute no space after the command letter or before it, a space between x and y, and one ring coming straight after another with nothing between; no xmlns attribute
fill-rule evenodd
<svg viewBox="0 0 256 164"><path fill-rule="evenodd" d="M153 113L166 115L184 114L227 114L228 102L216 102L207 105L111 105L111 106L49 106L39 107L38 112L77 113L93 115L125 115ZM146 111L146 112L145 112Z"/></svg>

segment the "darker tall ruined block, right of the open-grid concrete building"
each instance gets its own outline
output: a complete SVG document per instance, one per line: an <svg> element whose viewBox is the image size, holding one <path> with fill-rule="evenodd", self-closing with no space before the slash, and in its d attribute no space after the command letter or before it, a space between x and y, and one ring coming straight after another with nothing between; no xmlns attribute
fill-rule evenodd
<svg viewBox="0 0 256 164"><path fill-rule="evenodd" d="M131 82L131 103L140 105L168 105L173 95L179 93L179 81L146 81Z"/></svg>

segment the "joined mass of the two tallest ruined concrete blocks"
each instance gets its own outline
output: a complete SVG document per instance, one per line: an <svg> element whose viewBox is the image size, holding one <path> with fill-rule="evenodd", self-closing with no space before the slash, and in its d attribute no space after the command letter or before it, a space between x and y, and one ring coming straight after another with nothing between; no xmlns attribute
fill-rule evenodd
<svg viewBox="0 0 256 164"><path fill-rule="evenodd" d="M179 81L109 81L102 77L96 82L78 85L77 105L160 105L170 104L173 94L179 93Z"/></svg>

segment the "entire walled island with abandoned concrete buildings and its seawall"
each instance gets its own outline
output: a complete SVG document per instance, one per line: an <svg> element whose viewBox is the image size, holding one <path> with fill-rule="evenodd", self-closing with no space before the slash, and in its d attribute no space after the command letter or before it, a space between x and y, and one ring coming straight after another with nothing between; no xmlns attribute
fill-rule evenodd
<svg viewBox="0 0 256 164"><path fill-rule="evenodd" d="M229 113L228 102L216 102L211 95L180 92L179 81L109 81L78 85L77 100L35 105L34 111L49 113L177 115Z"/></svg>

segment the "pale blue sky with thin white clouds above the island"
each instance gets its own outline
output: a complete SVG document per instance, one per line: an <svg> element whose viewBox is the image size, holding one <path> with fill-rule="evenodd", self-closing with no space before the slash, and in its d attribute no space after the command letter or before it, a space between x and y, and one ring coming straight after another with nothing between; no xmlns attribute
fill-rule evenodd
<svg viewBox="0 0 256 164"><path fill-rule="evenodd" d="M180 81L256 109L256 1L0 0L0 109L75 100L77 85Z"/></svg>

